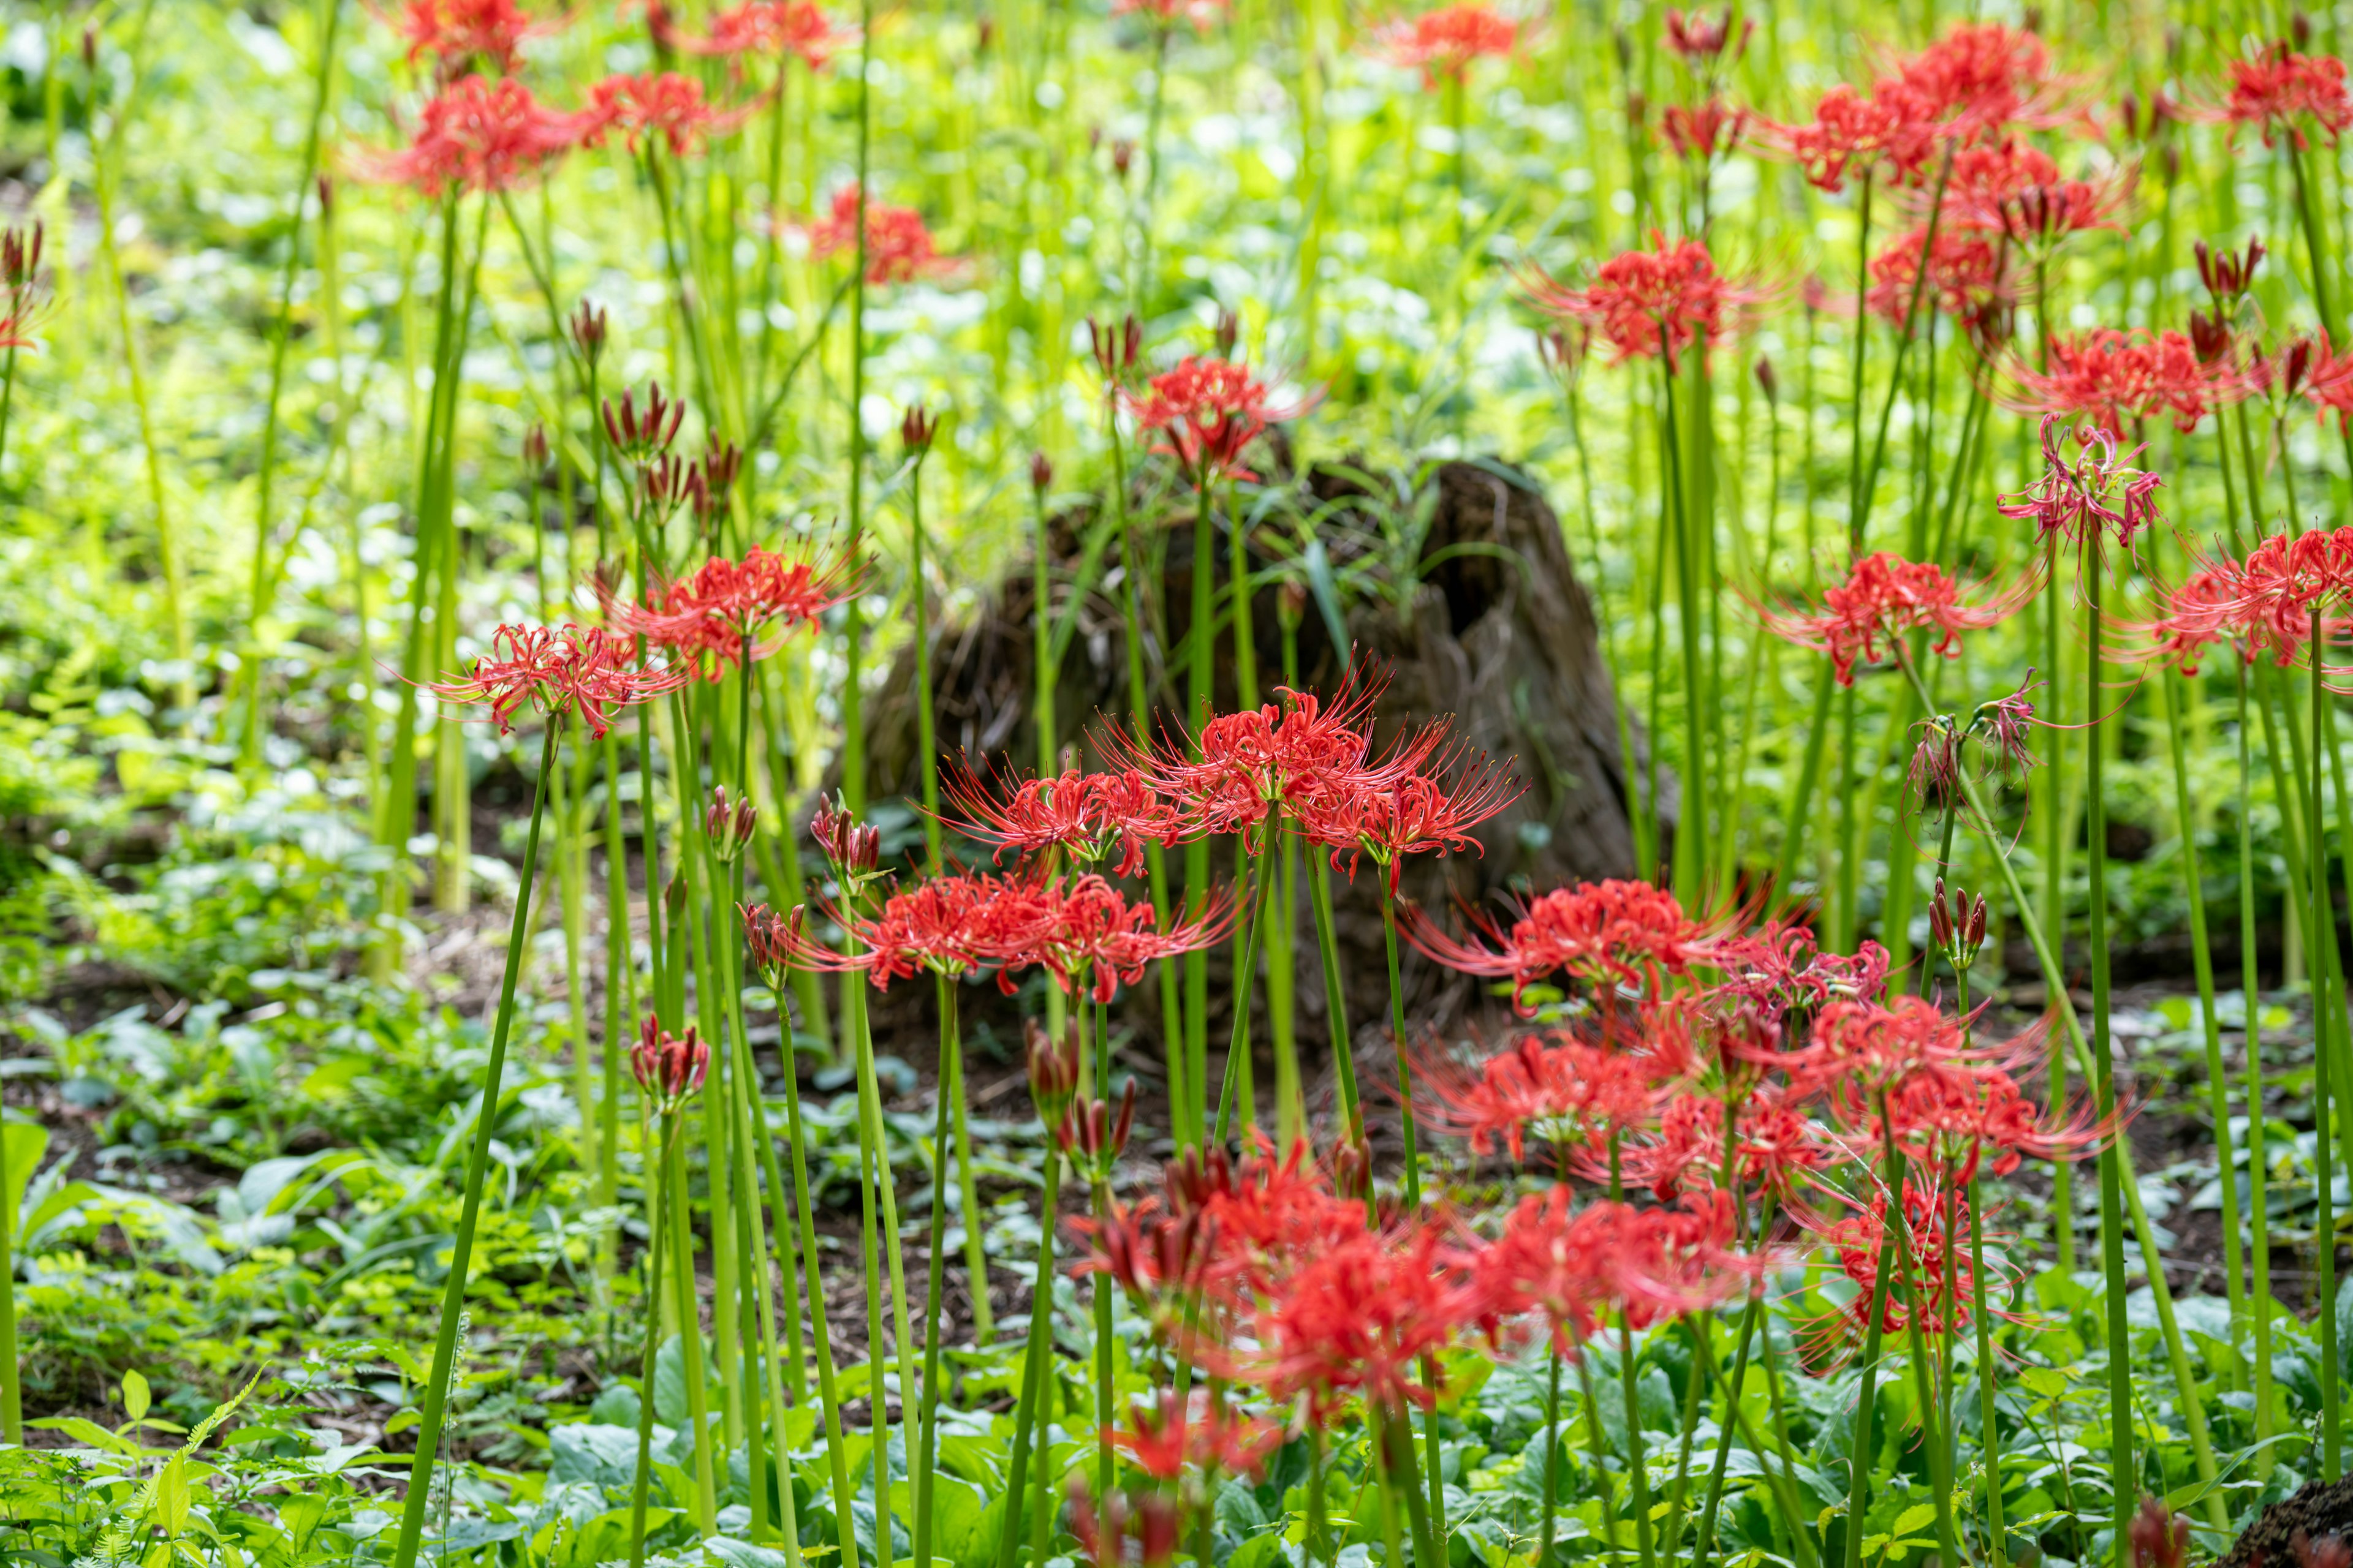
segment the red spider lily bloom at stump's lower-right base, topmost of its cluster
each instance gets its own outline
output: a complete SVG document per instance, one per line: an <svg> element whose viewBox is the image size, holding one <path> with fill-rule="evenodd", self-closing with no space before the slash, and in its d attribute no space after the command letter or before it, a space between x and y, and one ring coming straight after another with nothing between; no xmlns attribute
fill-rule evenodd
<svg viewBox="0 0 2353 1568"><path fill-rule="evenodd" d="M1522 903L1511 933L1482 914L1473 917L1468 943L1419 917L1409 917L1405 931L1424 957L1447 969L1508 976L1513 1006L1529 1013L1527 987L1562 971L1588 985L1642 985L1657 994L1666 976L1708 961L1708 945L1722 936L1722 924L1692 919L1666 889L1607 879Z"/></svg>

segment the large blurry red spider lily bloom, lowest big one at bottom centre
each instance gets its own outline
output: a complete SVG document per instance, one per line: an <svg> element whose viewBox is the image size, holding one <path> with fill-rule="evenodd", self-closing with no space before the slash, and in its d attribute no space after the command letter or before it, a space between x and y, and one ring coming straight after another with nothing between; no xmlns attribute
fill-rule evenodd
<svg viewBox="0 0 2353 1568"><path fill-rule="evenodd" d="M1419 1373L1473 1307L1433 1227L1388 1237L1358 1225L1282 1281L1254 1321L1261 1349L1233 1356L1233 1371L1278 1401L1306 1396L1311 1420L1351 1394L1384 1413L1428 1408L1438 1389Z"/></svg>

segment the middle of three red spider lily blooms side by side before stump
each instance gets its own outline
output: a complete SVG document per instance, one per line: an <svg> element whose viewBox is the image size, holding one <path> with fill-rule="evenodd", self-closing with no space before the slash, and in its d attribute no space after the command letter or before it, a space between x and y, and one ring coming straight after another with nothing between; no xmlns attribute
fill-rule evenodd
<svg viewBox="0 0 2353 1568"><path fill-rule="evenodd" d="M1113 729L1104 733L1104 745L1122 771L1174 806L1188 832L1249 835L1282 806L1285 816L1329 844L1353 827L1355 804L1367 790L1409 778L1442 741L1438 726L1424 726L1372 757L1372 705L1379 696L1379 677L1351 670L1332 701L1275 686L1275 703L1217 715L1198 738L1162 733L1158 745L1144 745ZM1264 849L1259 844L1249 853Z"/></svg>

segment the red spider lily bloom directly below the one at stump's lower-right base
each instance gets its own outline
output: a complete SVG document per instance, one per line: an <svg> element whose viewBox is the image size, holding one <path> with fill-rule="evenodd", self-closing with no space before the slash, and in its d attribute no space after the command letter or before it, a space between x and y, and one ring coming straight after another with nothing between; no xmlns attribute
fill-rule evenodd
<svg viewBox="0 0 2353 1568"><path fill-rule="evenodd" d="M1473 1154L1501 1143L1515 1164L1529 1135L1569 1157L1640 1126L1659 1105L1642 1058L1567 1032L1522 1034L1475 1077L1452 1058L1424 1060L1417 1077L1428 1088L1419 1110L1431 1126L1468 1138Z"/></svg>

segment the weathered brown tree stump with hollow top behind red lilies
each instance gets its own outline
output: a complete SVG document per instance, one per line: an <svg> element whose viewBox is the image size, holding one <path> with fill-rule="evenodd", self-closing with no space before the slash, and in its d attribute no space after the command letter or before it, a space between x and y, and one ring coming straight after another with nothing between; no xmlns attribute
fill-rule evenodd
<svg viewBox="0 0 2353 1568"><path fill-rule="evenodd" d="M1318 501L1346 510L1353 501L1377 501L1346 470L1313 470L1306 487ZM1631 804L1638 799L1635 769L1647 764L1647 741L1626 722L1633 759L1621 750L1621 717L1609 670L1600 654L1593 599L1577 581L1562 541L1560 517L1537 484L1499 463L1442 463L1426 477L1421 496L1428 527L1421 538L1417 581L1346 616L1346 635L1360 665L1386 675L1377 741L1386 743L1426 719L1452 715L1454 733L1511 764L1525 792L1501 816L1478 830L1482 853L1417 858L1405 867L1402 896L1431 919L1459 919L1457 905L1494 910L1508 893L1631 877L1635 870ZM1433 491L1433 494L1431 494ZM1066 574L1080 555L1092 520L1066 515L1052 527L1056 555L1056 614L1066 604ZM1174 722L1184 691L1184 646L1191 625L1193 520L1188 510L1162 520L1162 538L1146 569L1151 604L1165 628L1167 656L1148 649L1146 668L1162 682L1153 724ZM1224 609L1228 541L1217 541L1217 602ZM1127 719L1127 646L1115 571L1080 607L1075 632L1056 682L1056 731L1075 748L1082 766L1101 762L1099 726ZM1254 552L1254 571L1275 567ZM976 771L1031 771L1038 736L1031 724L1033 583L1026 567L998 585L988 614L944 625L934 637L932 693L934 733L946 759ZM1151 632L1146 632L1151 637ZM1282 672L1278 595L1254 595L1254 649L1261 701L1273 701ZM1297 628L1301 679L1329 691L1348 665L1348 649L1313 609ZM1217 703L1235 705L1231 628L1219 630ZM915 766L915 665L901 651L868 710L868 788L873 797L920 795ZM1661 769L1661 837L1671 837L1675 785ZM1176 856L1172 856L1172 867ZM1217 846L1217 877L1231 877L1231 849ZM1334 922L1351 999L1351 1032L1362 1051L1362 1077L1386 1081L1388 1006L1379 886L1374 870L1334 882ZM1297 997L1299 1051L1308 1081L1325 1060L1325 994L1315 964L1311 907L1297 896ZM1212 954L1212 1011L1231 1006L1226 985L1231 954ZM1405 985L1417 1027L1457 1027L1487 1009L1475 983L1405 952ZM1151 987L1144 987L1151 992ZM1129 999L1129 1023L1151 1037L1141 1060L1158 1056L1158 1001ZM908 1020L913 1025L913 1018ZM1231 1016L1212 1018L1212 1051L1231 1030ZM1259 1053L1266 1051L1264 992L1252 1023ZM1264 1070L1259 1084L1266 1084ZM1264 1091L1261 1091L1264 1093ZM1367 1086L1367 1093L1372 1088Z"/></svg>

